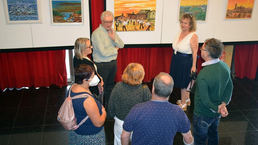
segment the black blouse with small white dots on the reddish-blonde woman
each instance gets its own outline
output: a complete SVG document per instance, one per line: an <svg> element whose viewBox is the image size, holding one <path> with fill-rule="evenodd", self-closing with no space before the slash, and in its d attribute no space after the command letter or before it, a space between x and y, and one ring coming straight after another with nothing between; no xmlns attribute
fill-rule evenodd
<svg viewBox="0 0 258 145"><path fill-rule="evenodd" d="M124 121L133 106L142 103L142 94L142 84L130 86L124 82L116 83L108 103L108 117L113 118L116 116L118 119ZM150 89L147 86L146 100L151 100L151 97Z"/></svg>

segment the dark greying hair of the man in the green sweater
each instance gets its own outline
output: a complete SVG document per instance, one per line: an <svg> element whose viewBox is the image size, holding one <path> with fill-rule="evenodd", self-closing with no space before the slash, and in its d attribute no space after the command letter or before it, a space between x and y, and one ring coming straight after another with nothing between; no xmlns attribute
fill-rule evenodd
<svg viewBox="0 0 258 145"><path fill-rule="evenodd" d="M220 58L224 48L224 45L220 40L215 38L210 38L210 39L206 39L204 43L205 43L204 47L207 50L207 52L209 52L209 56L211 58L213 59Z"/></svg>

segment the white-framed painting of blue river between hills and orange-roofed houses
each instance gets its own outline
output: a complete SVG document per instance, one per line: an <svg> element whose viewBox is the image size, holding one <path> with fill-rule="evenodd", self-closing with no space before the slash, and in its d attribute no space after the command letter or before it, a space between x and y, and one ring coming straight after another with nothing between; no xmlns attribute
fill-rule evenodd
<svg viewBox="0 0 258 145"><path fill-rule="evenodd" d="M50 0L52 25L82 25L82 0Z"/></svg>

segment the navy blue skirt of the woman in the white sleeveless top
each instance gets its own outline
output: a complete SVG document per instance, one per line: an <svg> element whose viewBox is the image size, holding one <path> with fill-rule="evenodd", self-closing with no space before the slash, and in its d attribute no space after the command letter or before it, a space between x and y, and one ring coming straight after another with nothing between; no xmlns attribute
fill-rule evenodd
<svg viewBox="0 0 258 145"><path fill-rule="evenodd" d="M191 68L193 66L193 59L189 56L182 56L177 54L172 55L169 75L174 80L175 88L187 88L191 81Z"/></svg>

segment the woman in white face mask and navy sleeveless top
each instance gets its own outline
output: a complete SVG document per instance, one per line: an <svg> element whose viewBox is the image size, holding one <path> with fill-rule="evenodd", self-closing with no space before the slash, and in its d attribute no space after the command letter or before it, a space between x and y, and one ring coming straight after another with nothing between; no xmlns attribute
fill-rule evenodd
<svg viewBox="0 0 258 145"><path fill-rule="evenodd" d="M70 89L70 96L88 94L89 97L72 100L77 124L87 115L87 119L78 129L69 131L69 144L106 144L103 124L106 119L105 108L93 97L90 86L96 86L99 78L94 74L94 67L80 64L74 70L75 83ZM69 90L68 90L69 92ZM67 93L68 97L69 93Z"/></svg>

